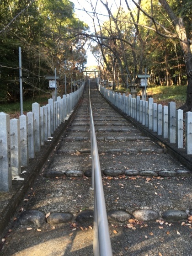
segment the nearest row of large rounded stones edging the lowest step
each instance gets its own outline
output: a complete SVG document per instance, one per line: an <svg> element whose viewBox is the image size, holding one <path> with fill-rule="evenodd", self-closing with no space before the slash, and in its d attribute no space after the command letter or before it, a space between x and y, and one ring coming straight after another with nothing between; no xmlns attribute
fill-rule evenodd
<svg viewBox="0 0 192 256"><path fill-rule="evenodd" d="M44 223L51 225L69 223L76 221L80 224L86 224L87 222L93 221L93 210L84 210L79 212L76 216L72 213L65 212L52 212L44 213L41 210L31 209L21 213L18 218L18 222L21 226L36 226L40 227ZM118 223L134 223L138 222L151 222L156 221L160 224L164 224L166 221L189 221L191 225L192 209L187 209L186 212L177 209L166 210L163 212L157 212L153 209L136 209L132 213L129 213L126 209L110 210L107 211L108 220L116 221ZM185 223L187 225L187 223ZM183 224L184 225L184 224Z"/></svg>

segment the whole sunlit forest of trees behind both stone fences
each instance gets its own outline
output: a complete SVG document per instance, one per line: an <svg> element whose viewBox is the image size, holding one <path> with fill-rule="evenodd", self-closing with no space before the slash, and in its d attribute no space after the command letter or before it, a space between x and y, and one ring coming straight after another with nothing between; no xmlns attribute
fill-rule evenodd
<svg viewBox="0 0 192 256"><path fill-rule="evenodd" d="M82 79L90 46L102 79L132 85L147 68L150 85L187 85L181 108L191 110L192 0L86 3L91 30L68 0L0 0L0 104L19 100L18 47L27 99L50 93L45 76L55 68L61 93L64 75L68 85Z"/></svg>

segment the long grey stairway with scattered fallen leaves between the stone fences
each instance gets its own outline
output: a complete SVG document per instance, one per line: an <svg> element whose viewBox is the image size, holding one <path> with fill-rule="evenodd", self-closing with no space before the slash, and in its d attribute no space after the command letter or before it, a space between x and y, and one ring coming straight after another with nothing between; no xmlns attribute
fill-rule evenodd
<svg viewBox="0 0 192 256"><path fill-rule="evenodd" d="M123 119L91 86L113 255L192 255L191 156L131 118ZM0 255L93 255L87 89L81 103L23 168L24 181L13 181L10 192L0 193ZM30 210L47 221L21 224ZM166 215L170 210L175 220ZM59 215L51 223L53 213L71 219L57 223Z"/></svg>

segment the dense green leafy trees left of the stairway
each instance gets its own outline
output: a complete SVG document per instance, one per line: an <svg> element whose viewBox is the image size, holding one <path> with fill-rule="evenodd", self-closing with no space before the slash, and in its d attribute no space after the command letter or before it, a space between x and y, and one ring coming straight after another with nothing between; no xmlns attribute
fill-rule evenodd
<svg viewBox="0 0 192 256"><path fill-rule="evenodd" d="M54 68L61 79L82 72L86 39L78 33L88 26L75 18L72 2L38 0L29 6L28 0L0 2L0 102L19 99L19 46L24 98L47 91L45 75L54 75Z"/></svg>

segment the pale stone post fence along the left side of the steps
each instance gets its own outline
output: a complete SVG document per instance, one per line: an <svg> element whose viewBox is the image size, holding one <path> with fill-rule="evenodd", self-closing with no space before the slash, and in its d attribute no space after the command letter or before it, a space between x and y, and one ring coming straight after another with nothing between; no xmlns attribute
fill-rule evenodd
<svg viewBox="0 0 192 256"><path fill-rule="evenodd" d="M84 84L79 90L48 99L46 106L32 104L32 112L11 119L0 112L0 191L9 191L12 179L21 174L21 166L27 166L29 159L35 158L44 142L59 125L68 118L70 112L83 94Z"/></svg>

